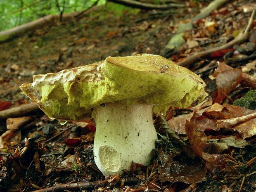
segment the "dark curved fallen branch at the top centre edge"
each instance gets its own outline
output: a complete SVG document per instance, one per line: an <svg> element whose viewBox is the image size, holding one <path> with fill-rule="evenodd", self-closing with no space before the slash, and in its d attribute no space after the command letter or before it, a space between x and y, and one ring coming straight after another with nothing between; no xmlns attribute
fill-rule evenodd
<svg viewBox="0 0 256 192"><path fill-rule="evenodd" d="M156 5L151 3L139 2L134 0L109 0L122 5L127 5L129 7L135 7L140 9L171 9L173 7L185 7L184 4L179 3L168 3L166 5Z"/></svg>

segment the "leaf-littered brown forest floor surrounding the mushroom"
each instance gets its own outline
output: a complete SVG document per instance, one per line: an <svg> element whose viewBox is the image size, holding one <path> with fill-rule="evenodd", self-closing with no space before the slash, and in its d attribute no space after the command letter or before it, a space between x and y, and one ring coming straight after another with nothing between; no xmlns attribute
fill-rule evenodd
<svg viewBox="0 0 256 192"><path fill-rule="evenodd" d="M0 110L30 102L19 86L31 83L32 75L108 56L163 54L178 25L205 6L205 2L190 1L185 9L145 11L120 5L117 10L116 4L108 3L80 19L56 21L1 43ZM196 21L193 30L184 33L184 45L166 57L180 62L236 38L255 6L253 1L239 0L214 10ZM165 117L154 115L159 140L152 165L134 163L123 175L104 177L93 159L93 120L64 124L37 111L0 120L0 191L255 192L255 27L256 20L242 45L214 52L189 66L206 82L209 97L191 108L170 107ZM233 105L250 90L246 105L241 100ZM248 119L250 114L254 116ZM225 121L234 118L238 118L235 125ZM222 127L219 122L224 122ZM58 188L61 183L66 184L64 189ZM81 186L72 185L77 183ZM52 186L57 189L46 190Z"/></svg>

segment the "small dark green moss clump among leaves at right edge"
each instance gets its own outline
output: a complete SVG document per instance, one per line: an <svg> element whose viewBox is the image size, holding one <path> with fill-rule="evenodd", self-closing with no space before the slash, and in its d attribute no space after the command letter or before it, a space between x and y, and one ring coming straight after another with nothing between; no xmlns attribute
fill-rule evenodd
<svg viewBox="0 0 256 192"><path fill-rule="evenodd" d="M256 90L248 91L241 99L236 100L234 103L236 106L245 107L247 109L256 109Z"/></svg>

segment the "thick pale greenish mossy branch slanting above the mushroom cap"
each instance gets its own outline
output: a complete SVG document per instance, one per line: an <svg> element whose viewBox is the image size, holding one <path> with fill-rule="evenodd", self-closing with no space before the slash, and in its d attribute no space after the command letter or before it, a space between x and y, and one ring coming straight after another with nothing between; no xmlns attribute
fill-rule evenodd
<svg viewBox="0 0 256 192"><path fill-rule="evenodd" d="M183 32L190 31L193 28L193 22L197 21L198 19L204 19L207 17L213 9L217 9L221 5L223 5L225 2L228 2L229 0L214 0L211 2L206 8L202 9L199 14L197 14L191 21L187 24L180 24L178 26L177 33L172 36L172 38L168 41L167 45L165 46L163 50L163 54L165 57L166 55L174 50L179 49L180 46L185 43L185 40L183 39Z"/></svg>

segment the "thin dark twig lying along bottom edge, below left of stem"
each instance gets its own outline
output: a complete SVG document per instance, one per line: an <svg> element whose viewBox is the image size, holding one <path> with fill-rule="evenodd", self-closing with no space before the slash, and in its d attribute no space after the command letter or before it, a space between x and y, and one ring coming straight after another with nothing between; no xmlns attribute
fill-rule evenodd
<svg viewBox="0 0 256 192"><path fill-rule="evenodd" d="M109 183L107 180L105 181L92 181L92 182L85 182L85 183L66 183L66 184L58 184L54 185L53 187L36 190L33 192L58 192L64 190L88 190L95 187L104 187L107 186Z"/></svg>

